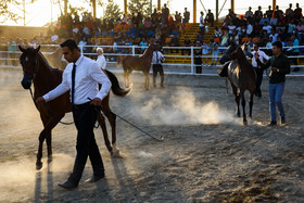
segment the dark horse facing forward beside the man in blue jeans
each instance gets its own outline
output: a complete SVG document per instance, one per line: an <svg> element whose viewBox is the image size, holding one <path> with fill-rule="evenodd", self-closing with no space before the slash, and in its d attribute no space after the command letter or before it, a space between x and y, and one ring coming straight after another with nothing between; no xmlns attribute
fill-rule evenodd
<svg viewBox="0 0 304 203"><path fill-rule="evenodd" d="M228 66L228 80L232 87L235 100L237 103L237 115L240 117L240 99L242 99L243 107L243 124L246 125L245 114L245 99L244 91L250 92L250 113L249 116L252 118L252 106L253 106L253 94L255 91L256 73L252 64L246 60L246 55L250 55L250 47L244 43L242 47L235 47L235 49L228 48L223 55L223 59L231 61ZM221 60L223 60L221 59Z"/></svg>

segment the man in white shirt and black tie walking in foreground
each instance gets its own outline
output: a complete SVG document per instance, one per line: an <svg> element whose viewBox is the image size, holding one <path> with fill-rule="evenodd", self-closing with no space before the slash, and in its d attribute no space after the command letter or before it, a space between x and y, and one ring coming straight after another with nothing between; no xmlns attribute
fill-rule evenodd
<svg viewBox="0 0 304 203"><path fill-rule="evenodd" d="M63 72L62 83L38 98L36 102L48 102L69 90L73 118L77 128L77 154L72 174L59 186L72 189L78 187L88 156L93 176L87 182L104 178L103 162L96 143L93 128L99 114L97 110L101 109L101 102L107 96L112 84L96 61L80 54L73 39L67 39L60 46L64 59L69 63ZM100 90L99 84L102 85Z"/></svg>

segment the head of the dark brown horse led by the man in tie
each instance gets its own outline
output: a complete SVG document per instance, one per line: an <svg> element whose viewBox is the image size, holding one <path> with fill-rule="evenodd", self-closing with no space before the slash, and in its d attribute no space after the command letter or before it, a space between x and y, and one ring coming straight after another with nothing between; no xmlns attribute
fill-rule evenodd
<svg viewBox="0 0 304 203"><path fill-rule="evenodd" d="M22 87L24 89L29 89L31 86L31 80L35 78L38 73L38 52L40 50L40 46L37 49L27 48L24 49L18 46L22 51L22 55L20 56L20 63L23 68L23 79L21 81Z"/></svg>

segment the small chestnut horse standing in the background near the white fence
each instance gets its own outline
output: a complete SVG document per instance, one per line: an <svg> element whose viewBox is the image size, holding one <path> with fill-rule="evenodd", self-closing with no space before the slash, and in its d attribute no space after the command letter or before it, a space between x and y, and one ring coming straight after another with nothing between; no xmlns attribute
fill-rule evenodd
<svg viewBox="0 0 304 203"><path fill-rule="evenodd" d="M117 58L117 65L123 64L124 68L124 83L126 87L130 86L129 76L132 71L142 71L144 75L144 88L149 89L149 72L151 67L153 51L157 50L156 45L150 45L142 55L132 56L126 55L123 59ZM122 61L122 62L121 62Z"/></svg>

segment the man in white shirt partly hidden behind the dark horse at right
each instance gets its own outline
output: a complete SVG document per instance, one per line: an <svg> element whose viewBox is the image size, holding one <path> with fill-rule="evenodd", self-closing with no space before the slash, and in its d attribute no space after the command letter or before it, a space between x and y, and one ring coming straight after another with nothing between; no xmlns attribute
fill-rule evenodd
<svg viewBox="0 0 304 203"><path fill-rule="evenodd" d="M262 98L262 91L261 91L261 85L262 85L262 80L263 80L263 72L264 69L261 68L261 66L257 65L257 62L255 60L255 55L258 56L259 61L268 61L269 56L266 55L266 53L264 51L261 51L258 49L258 45L254 43L253 45L253 52L251 52L253 58L252 58L252 66L254 67L255 72L256 72L256 87L255 87L255 96L258 98Z"/></svg>

